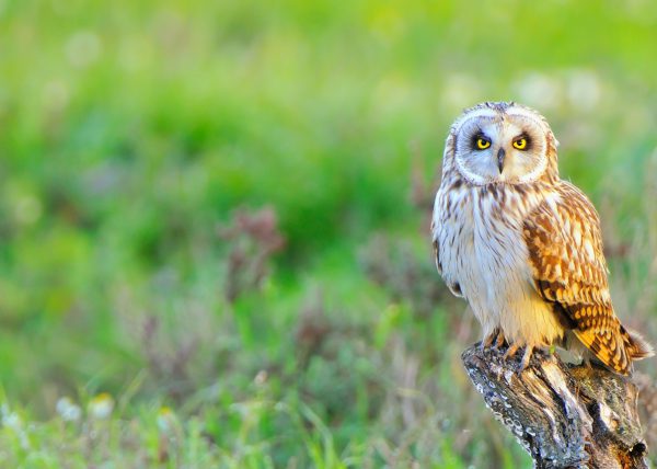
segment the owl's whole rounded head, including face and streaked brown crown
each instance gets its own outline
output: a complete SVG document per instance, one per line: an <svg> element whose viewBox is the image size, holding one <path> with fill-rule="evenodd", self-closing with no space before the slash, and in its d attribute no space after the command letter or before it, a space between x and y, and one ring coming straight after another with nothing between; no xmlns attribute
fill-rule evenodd
<svg viewBox="0 0 657 469"><path fill-rule="evenodd" d="M474 185L530 183L558 176L556 145L538 112L512 102L482 103L452 125L443 164Z"/></svg>

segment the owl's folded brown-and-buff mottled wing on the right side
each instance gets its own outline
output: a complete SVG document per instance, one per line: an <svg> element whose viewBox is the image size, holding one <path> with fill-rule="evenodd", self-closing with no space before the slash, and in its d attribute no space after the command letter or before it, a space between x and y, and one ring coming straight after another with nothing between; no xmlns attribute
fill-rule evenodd
<svg viewBox="0 0 657 469"><path fill-rule="evenodd" d="M627 374L641 351L613 311L598 214L567 182L558 183L556 194L523 225L534 286L596 357Z"/></svg>

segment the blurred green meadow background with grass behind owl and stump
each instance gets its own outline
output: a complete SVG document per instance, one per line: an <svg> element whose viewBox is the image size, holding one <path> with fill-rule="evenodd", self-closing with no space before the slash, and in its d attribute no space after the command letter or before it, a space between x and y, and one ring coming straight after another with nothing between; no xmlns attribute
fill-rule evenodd
<svg viewBox="0 0 657 469"><path fill-rule="evenodd" d="M445 137L543 113L655 343L656 50L647 0L1 0L0 466L530 467L435 272Z"/></svg>

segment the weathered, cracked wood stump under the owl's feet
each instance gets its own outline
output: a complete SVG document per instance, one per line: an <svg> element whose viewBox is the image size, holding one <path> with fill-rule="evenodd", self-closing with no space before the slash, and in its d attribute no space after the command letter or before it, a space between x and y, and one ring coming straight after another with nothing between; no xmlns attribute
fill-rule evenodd
<svg viewBox="0 0 657 469"><path fill-rule="evenodd" d="M535 353L519 357L475 344L462 354L470 379L537 468L647 468L637 388L607 369Z"/></svg>

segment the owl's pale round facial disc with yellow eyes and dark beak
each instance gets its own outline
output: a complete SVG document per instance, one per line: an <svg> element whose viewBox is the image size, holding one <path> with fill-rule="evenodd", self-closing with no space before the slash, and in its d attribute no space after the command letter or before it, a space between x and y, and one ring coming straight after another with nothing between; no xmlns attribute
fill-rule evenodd
<svg viewBox="0 0 657 469"><path fill-rule="evenodd" d="M456 163L475 185L534 181L548 165L545 130L523 113L477 113L457 129Z"/></svg>

